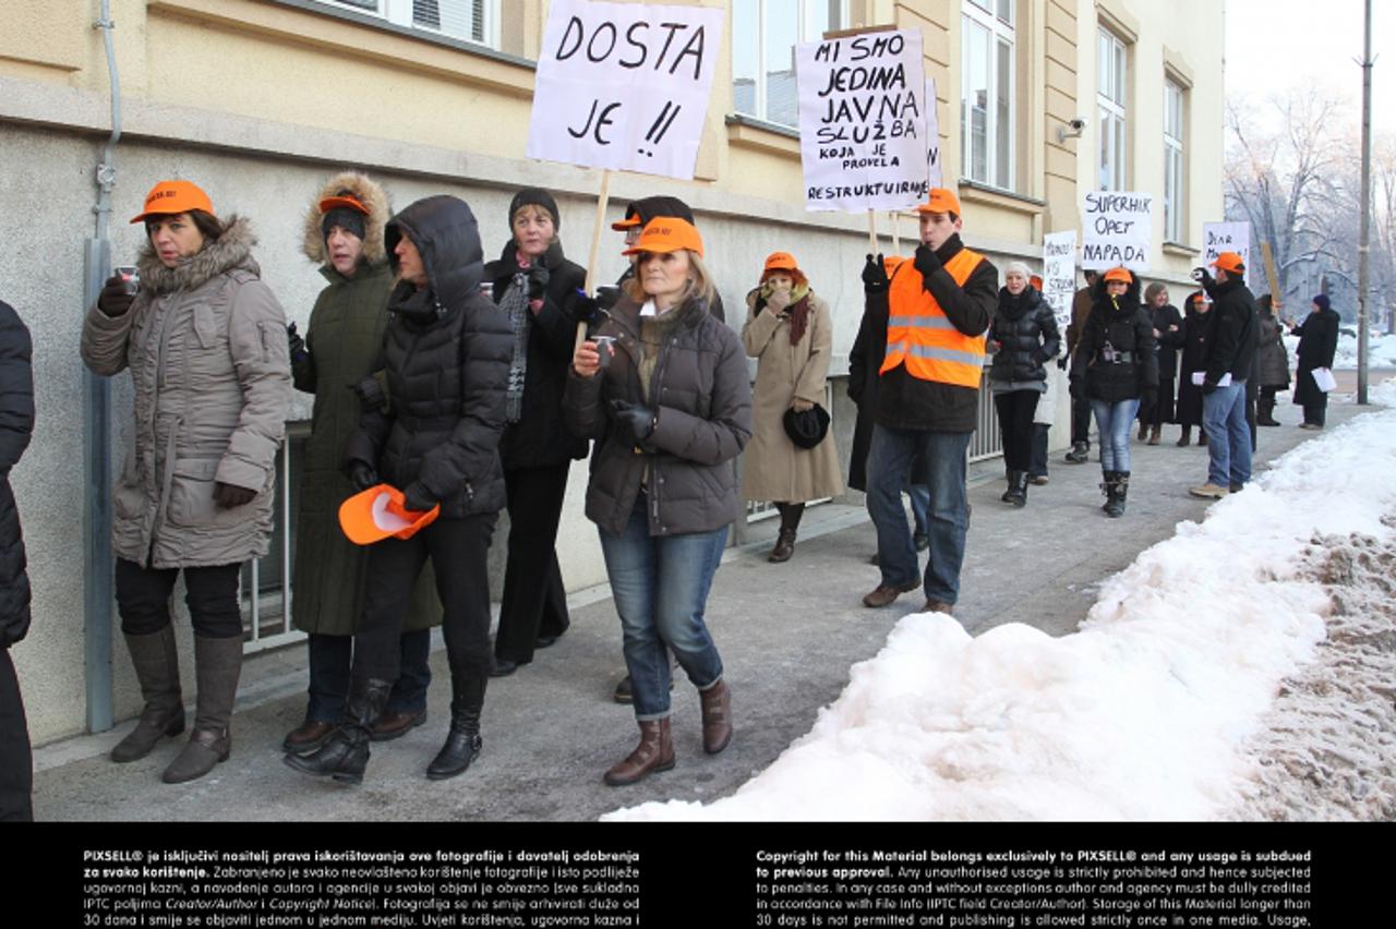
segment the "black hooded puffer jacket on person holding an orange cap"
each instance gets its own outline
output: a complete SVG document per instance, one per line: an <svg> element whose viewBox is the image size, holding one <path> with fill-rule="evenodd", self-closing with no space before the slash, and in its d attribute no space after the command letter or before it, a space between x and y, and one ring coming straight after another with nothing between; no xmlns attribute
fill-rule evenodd
<svg viewBox="0 0 1396 929"><path fill-rule="evenodd" d="M475 215L455 197L427 197L388 222L389 255L403 234L422 254L429 286L401 282L388 297L392 318L374 367L387 371L392 409L362 411L346 469L366 462L399 490L420 481L443 518L497 512L512 333L480 293Z"/></svg>

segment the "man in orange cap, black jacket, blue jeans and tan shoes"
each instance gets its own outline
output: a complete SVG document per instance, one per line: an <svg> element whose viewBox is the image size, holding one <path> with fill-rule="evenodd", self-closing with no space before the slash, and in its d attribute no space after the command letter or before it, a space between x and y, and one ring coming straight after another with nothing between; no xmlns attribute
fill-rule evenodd
<svg viewBox="0 0 1396 929"><path fill-rule="evenodd" d="M1245 417L1247 381L1255 367L1255 297L1245 286L1241 255L1223 251L1195 276L1212 294L1212 340L1202 372L1202 423L1208 431L1208 481L1188 492L1220 499L1251 480L1251 424Z"/></svg>

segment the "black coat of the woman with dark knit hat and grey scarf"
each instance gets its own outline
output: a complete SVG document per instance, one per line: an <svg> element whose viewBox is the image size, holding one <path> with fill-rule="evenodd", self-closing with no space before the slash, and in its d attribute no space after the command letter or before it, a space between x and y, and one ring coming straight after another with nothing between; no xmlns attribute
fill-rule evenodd
<svg viewBox="0 0 1396 929"><path fill-rule="evenodd" d="M511 240L498 261L484 265L484 279L491 285L494 303L504 300L510 282L524 273L517 252ZM577 343L577 301L586 285L586 271L568 261L557 243L543 255L543 266L549 272L543 307L536 314L529 312L524 414L518 423L504 427L500 439L500 459L505 469L547 467L586 456L586 442L563 427L563 388L567 386L567 368Z"/></svg>

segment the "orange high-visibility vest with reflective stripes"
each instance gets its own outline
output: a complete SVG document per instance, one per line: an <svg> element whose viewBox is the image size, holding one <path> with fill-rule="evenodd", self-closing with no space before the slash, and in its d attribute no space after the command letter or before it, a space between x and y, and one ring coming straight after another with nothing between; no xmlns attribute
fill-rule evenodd
<svg viewBox="0 0 1396 929"><path fill-rule="evenodd" d="M983 259L962 248L945 262L945 271L963 287ZM921 381L979 388L987 333L967 336L956 329L935 297L921 286L921 272L910 261L896 269L888 304L892 312L886 319L886 354L878 374L905 364L906 371Z"/></svg>

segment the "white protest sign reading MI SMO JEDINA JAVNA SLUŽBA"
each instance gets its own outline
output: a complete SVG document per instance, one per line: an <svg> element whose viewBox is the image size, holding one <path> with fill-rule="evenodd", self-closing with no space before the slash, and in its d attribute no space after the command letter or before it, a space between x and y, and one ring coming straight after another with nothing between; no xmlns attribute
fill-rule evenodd
<svg viewBox="0 0 1396 929"><path fill-rule="evenodd" d="M926 201L919 31L800 43L796 75L805 209L906 209Z"/></svg>

